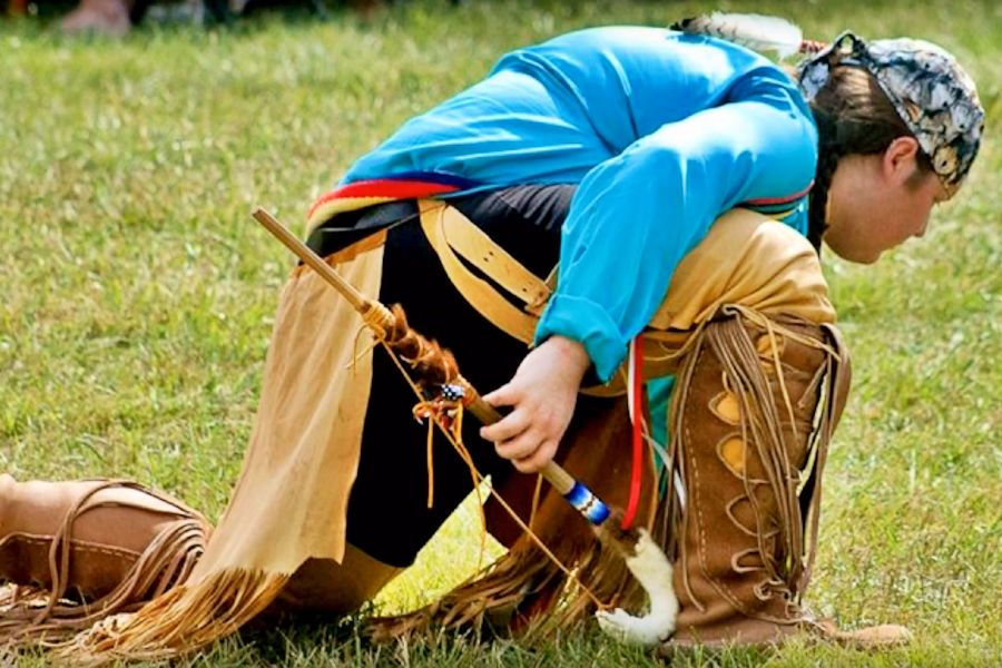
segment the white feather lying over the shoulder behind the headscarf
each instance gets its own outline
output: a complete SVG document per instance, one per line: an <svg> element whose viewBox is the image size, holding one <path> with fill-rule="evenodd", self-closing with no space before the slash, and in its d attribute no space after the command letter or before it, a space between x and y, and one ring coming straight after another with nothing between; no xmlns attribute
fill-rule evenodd
<svg viewBox="0 0 1002 668"><path fill-rule="evenodd" d="M715 11L708 16L682 19L671 29L686 35L719 37L756 51L775 51L779 58L798 52L804 41L800 28L790 21L753 13Z"/></svg>

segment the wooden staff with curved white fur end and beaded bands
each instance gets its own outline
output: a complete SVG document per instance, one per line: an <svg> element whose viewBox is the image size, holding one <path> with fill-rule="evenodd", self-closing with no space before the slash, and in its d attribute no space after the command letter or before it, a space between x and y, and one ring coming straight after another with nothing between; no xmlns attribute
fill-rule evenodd
<svg viewBox="0 0 1002 668"><path fill-rule="evenodd" d="M433 383L439 385L459 384L463 390L463 404L483 424L493 424L501 420L501 414L483 401L477 390L459 374L459 367L451 353L441 350L407 326L403 310L394 307L391 311L379 301L360 293L266 210L257 208L252 216L306 266L341 293L362 315L362 320L376 336L385 341L394 352L412 361L420 376L426 380L430 375ZM609 521L609 518L613 517L609 507L557 462L552 460L548 462L540 474L596 528L601 540L612 543L623 556L627 568L650 598L650 611L642 617L635 617L620 609L599 610L596 615L602 629L620 640L635 644L654 645L667 639L675 630L678 600L671 586L671 563L660 547L654 542L646 529L623 531L615 527L616 522Z"/></svg>

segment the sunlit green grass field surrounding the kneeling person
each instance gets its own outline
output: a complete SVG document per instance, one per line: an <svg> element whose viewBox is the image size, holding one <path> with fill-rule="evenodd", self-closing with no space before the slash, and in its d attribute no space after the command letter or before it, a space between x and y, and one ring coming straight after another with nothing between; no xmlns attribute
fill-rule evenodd
<svg viewBox="0 0 1002 668"><path fill-rule="evenodd" d="M217 517L291 266L250 208L299 224L354 157L511 47L710 7L426 0L366 20L335 10L229 30L146 24L122 41L0 21L0 470L128 477ZM849 626L905 623L914 645L735 650L688 665L1000 665L1002 4L714 7L784 12L818 38L853 27L934 39L979 81L989 124L970 184L925 239L873 267L826 259L855 383L808 598ZM478 542L466 508L379 605L400 610L448 589L477 567ZM593 629L530 650L370 646L353 625L244 635L191 665L658 665Z"/></svg>

